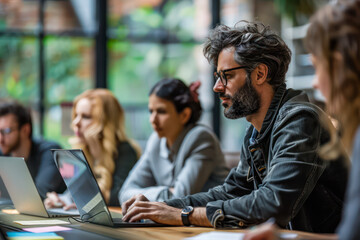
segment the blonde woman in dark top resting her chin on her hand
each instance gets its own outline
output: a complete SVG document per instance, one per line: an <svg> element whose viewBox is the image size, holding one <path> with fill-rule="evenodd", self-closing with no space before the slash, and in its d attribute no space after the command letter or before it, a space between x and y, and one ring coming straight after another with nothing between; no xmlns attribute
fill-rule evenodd
<svg viewBox="0 0 360 240"><path fill-rule="evenodd" d="M140 148L126 135L122 106L109 90L87 90L74 100L72 128L72 148L84 151L106 203L119 206L118 192L140 155ZM75 207L62 197L48 193L45 206Z"/></svg>

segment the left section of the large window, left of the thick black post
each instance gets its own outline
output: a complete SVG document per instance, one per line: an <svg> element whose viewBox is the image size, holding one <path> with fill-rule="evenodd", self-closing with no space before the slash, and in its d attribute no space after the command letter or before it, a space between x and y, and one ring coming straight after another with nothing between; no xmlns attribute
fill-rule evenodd
<svg viewBox="0 0 360 240"><path fill-rule="evenodd" d="M0 96L31 107L34 135L64 147L60 104L95 86L94 37L82 28L74 2L0 2Z"/></svg>

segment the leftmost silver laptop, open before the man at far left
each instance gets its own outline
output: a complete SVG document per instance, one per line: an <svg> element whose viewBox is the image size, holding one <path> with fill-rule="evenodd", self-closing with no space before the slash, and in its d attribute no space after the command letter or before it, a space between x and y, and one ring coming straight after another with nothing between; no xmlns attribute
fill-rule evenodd
<svg viewBox="0 0 360 240"><path fill-rule="evenodd" d="M76 209L46 209L22 157L0 157L0 176L16 210L40 217L79 216Z"/></svg>

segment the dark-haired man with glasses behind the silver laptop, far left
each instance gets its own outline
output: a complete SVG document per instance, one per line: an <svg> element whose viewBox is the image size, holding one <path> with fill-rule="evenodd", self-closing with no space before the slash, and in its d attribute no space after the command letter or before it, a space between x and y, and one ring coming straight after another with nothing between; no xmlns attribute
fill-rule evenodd
<svg viewBox="0 0 360 240"><path fill-rule="evenodd" d="M65 183L55 166L50 149L60 146L54 142L32 137L31 114L14 100L0 100L0 156L23 157L42 198L47 192L63 192ZM1 167L1 166L0 166ZM0 197L4 193L2 180Z"/></svg>

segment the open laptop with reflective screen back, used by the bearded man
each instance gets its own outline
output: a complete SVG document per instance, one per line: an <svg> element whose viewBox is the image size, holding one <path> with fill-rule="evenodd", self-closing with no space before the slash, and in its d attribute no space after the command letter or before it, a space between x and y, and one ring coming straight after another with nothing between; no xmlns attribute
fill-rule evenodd
<svg viewBox="0 0 360 240"><path fill-rule="evenodd" d="M56 166L79 210L80 221L109 227L168 226L151 220L124 222L111 216L88 161L81 149L52 149ZM121 214L120 217L122 217Z"/></svg>

